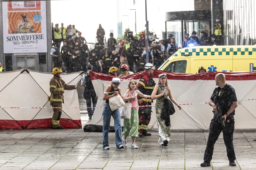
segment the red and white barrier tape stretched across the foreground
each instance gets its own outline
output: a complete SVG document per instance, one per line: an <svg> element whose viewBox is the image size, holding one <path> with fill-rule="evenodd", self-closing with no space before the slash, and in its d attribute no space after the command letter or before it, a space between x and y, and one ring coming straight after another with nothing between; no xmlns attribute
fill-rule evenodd
<svg viewBox="0 0 256 170"><path fill-rule="evenodd" d="M243 100L237 100L237 101L247 101L247 100L256 100L256 98L253 99L243 99ZM190 105L190 104L206 104L205 103L187 103L187 104L179 104L179 105ZM155 105L147 105L147 106L137 106L137 107L151 107ZM104 107L0 107L2 109L87 109L87 108L104 108Z"/></svg>

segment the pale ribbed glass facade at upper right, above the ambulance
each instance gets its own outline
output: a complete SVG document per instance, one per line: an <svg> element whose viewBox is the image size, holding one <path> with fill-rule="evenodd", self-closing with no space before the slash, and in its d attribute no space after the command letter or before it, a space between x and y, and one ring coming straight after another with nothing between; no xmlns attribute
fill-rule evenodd
<svg viewBox="0 0 256 170"><path fill-rule="evenodd" d="M223 0L224 44L255 45L255 0Z"/></svg>

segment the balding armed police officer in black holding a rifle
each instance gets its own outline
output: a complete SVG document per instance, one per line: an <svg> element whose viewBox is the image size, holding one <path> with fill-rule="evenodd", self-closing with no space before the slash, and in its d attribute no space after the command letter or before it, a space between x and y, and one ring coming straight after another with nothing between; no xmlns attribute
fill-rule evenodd
<svg viewBox="0 0 256 170"><path fill-rule="evenodd" d="M210 161L213 155L214 144L221 131L223 132L229 165L236 166L236 155L233 145L233 132L235 128L234 115L237 107L236 92L231 85L226 84L226 77L223 73L218 73L215 76L215 82L219 87L214 89L209 101L209 105L213 107L215 114L211 120L208 141L203 157L204 162L201 163L201 166L211 166ZM214 96L216 96L219 103L214 103ZM220 108L217 108L217 104L219 104ZM217 109L221 111L222 117L219 116ZM221 118L224 118L225 126L222 124Z"/></svg>

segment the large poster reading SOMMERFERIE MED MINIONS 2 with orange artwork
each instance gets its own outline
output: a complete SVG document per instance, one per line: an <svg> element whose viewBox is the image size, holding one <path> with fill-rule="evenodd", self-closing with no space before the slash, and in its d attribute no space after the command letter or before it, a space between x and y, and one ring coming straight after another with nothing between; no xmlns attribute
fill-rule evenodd
<svg viewBox="0 0 256 170"><path fill-rule="evenodd" d="M2 2L4 53L47 52L45 1Z"/></svg>

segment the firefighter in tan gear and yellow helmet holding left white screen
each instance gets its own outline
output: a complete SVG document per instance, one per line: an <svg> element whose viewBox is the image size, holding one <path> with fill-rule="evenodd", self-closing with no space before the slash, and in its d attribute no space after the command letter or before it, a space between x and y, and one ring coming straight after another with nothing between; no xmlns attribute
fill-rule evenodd
<svg viewBox="0 0 256 170"><path fill-rule="evenodd" d="M62 112L62 103L64 103L63 93L64 90L76 89L76 85L67 85L63 80L61 80L61 68L53 68L53 78L50 81L50 105L52 107L60 107L59 109L53 108L53 118L51 122L52 129L64 129L60 126L60 118Z"/></svg>

